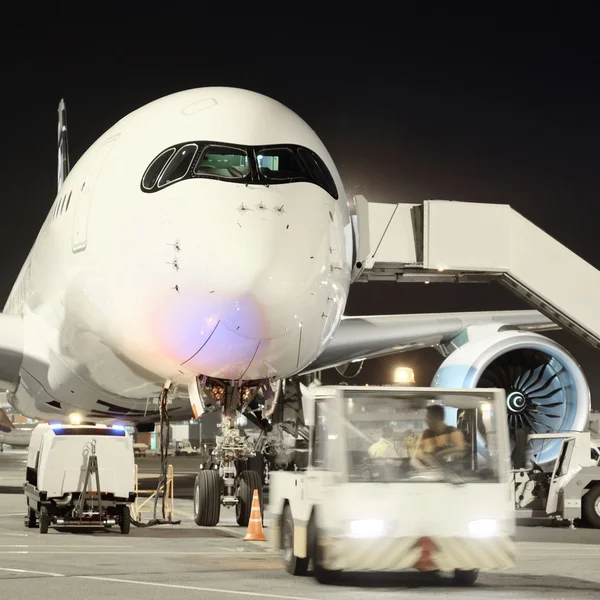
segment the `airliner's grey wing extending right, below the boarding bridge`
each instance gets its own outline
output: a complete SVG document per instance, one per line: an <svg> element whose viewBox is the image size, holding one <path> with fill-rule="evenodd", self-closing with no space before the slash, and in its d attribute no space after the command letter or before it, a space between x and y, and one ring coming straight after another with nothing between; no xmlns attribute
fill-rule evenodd
<svg viewBox="0 0 600 600"><path fill-rule="evenodd" d="M301 374L436 346L466 327L493 323L528 331L560 329L536 310L343 317L323 354Z"/></svg>

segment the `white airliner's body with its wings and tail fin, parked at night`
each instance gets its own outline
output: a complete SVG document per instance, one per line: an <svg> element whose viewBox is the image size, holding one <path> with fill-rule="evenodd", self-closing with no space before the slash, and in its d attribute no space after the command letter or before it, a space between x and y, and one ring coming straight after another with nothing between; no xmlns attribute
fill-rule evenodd
<svg viewBox="0 0 600 600"><path fill-rule="evenodd" d="M61 102L58 194L0 315L0 387L43 420L77 412L141 430L167 390L173 419L241 410L266 426L281 381L408 348L476 361L493 347L473 385L508 389L517 374L489 369L525 329L539 356L518 378L560 367L539 344L566 352L531 333L552 327L537 311L344 317L351 207L316 133L264 95L161 98L72 169Z"/></svg>

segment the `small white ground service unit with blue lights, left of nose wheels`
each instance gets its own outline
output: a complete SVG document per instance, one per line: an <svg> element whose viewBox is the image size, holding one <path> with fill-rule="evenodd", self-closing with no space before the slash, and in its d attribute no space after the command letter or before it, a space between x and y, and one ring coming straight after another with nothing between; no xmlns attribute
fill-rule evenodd
<svg viewBox="0 0 600 600"><path fill-rule="evenodd" d="M128 534L135 501L133 444L119 425L43 423L27 455L26 527L111 527Z"/></svg>

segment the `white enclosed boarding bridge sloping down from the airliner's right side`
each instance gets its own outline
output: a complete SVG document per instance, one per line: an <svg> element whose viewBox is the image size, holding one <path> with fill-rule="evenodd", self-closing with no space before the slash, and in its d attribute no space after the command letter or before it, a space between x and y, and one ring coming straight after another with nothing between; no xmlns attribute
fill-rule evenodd
<svg viewBox="0 0 600 600"><path fill-rule="evenodd" d="M600 349L600 271L509 205L355 204L354 281L497 280Z"/></svg>

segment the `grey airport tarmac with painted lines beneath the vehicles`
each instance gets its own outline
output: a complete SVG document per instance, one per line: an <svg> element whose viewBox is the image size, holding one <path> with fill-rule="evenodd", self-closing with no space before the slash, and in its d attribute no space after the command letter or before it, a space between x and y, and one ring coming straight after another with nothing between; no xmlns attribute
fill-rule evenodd
<svg viewBox="0 0 600 600"><path fill-rule="evenodd" d="M6 467L22 452L0 454L0 484ZM8 458L10 457L10 458ZM177 457L179 458L179 457ZM195 464L184 457L185 465ZM192 462L193 461L193 462ZM149 467L150 465L148 465ZM144 469L145 470L145 469ZM13 480L15 479L14 476ZM20 477L17 477L20 480ZM16 490L13 489L13 492ZM557 527L519 527L515 568L483 573L473 588L451 580L404 574L348 577L321 586L312 577L292 577L278 553L265 542L244 542L233 511L224 511L216 528L196 527L192 502L175 501L180 525L131 528L128 536L108 531L51 529L48 535L24 527L25 500L0 494L0 597L377 599L402 598L597 598L600 596L600 531ZM265 533L269 535L269 530Z"/></svg>

